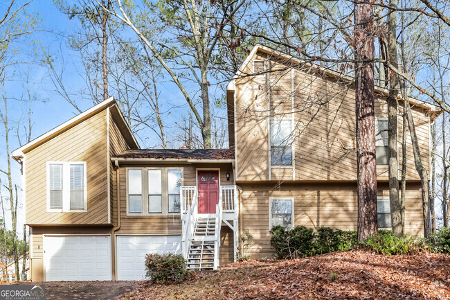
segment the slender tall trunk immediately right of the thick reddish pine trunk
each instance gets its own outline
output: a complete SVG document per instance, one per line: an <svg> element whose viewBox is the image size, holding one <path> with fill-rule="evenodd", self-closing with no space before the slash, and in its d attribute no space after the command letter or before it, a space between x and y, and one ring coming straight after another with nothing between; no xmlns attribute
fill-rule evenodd
<svg viewBox="0 0 450 300"><path fill-rule="evenodd" d="M388 51L387 58L395 69L398 69L397 55L397 8L398 0L390 0L388 14ZM389 78L388 96L388 177L389 177L389 203L392 229L397 237L403 236L402 211L399 202L399 162L397 146L398 130L398 100L399 80L396 73Z"/></svg>

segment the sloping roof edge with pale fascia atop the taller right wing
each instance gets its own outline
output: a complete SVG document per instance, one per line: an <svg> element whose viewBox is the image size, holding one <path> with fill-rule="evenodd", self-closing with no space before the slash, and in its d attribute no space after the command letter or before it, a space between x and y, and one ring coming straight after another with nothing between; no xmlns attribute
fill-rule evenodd
<svg viewBox="0 0 450 300"><path fill-rule="evenodd" d="M244 69L246 68L247 64L249 64L251 62L251 60L253 59L253 57L256 55L256 53L258 53L258 51L262 52L262 53L267 53L269 55L275 56L277 58L281 58L283 60L287 60L289 62L292 62L294 64L302 64L305 67L309 67L309 68L314 68L316 69L316 71L320 71L322 73L324 73L326 76L329 76L331 78L336 78L339 80L345 80L347 82L353 82L354 78L352 76L348 76L345 75L344 73L340 73L338 71L334 71L332 69L326 69L324 67L319 66L318 64L313 64L312 62L307 62L305 60L302 60L300 58L296 58L293 55L284 53L282 51L278 51L274 48L271 48L269 46L264 46L262 44L256 44L253 49L251 50L251 52L249 53L249 55L247 56L247 58L244 60L244 62L242 63L241 67L237 70L237 72L235 73L235 76L233 76L233 78L230 80L230 82L228 82L228 85L226 85L226 91L231 91L234 92L235 91L235 80L238 78L241 78L242 76L249 76L249 74L244 73ZM389 90L384 88L384 87L379 87L377 85L375 85L375 92L378 94L382 94L385 96L388 96L389 94ZM431 120L435 120L435 118L437 118L441 113L442 113L442 109L436 105L432 105L430 103L426 103L422 100L413 98L411 96L408 96L408 100L409 103L411 103L411 105L414 105L415 107L421 107L423 109L426 109L429 111Z"/></svg>

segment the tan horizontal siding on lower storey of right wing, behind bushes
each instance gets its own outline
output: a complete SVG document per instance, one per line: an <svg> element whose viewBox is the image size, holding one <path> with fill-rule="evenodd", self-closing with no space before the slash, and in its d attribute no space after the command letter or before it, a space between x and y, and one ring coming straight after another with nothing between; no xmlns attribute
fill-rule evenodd
<svg viewBox="0 0 450 300"><path fill-rule="evenodd" d="M314 184L285 187L242 187L242 230L253 234L251 256L271 257L269 233L269 197L294 197L294 225L310 228L333 227L343 230L357 229L356 184ZM290 188L290 189L289 189ZM378 195L388 195L386 184L380 184ZM423 235L422 198L420 184L410 184L406 191L405 231Z"/></svg>

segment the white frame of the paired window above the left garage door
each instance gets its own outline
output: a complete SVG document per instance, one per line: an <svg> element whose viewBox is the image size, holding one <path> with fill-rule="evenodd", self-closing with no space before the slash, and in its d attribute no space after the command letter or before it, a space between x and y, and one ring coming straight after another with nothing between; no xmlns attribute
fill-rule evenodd
<svg viewBox="0 0 450 300"><path fill-rule="evenodd" d="M62 165L62 209L50 208L50 165ZM84 209L71 209L71 165L83 165ZM47 161L47 212L49 213L86 213L87 212L87 167L86 161Z"/></svg>

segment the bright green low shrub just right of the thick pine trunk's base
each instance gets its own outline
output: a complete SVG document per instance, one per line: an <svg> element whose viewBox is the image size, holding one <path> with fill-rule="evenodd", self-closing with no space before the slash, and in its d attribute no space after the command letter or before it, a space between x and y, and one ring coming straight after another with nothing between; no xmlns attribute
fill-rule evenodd
<svg viewBox="0 0 450 300"><path fill-rule="evenodd" d="M397 254L417 254L429 248L423 238L415 238L405 234L402 238L397 238L393 231L380 230L375 236L368 238L361 244L377 254L397 255Z"/></svg>

